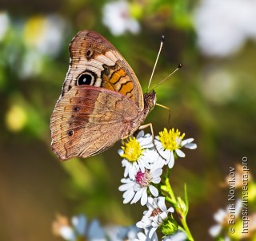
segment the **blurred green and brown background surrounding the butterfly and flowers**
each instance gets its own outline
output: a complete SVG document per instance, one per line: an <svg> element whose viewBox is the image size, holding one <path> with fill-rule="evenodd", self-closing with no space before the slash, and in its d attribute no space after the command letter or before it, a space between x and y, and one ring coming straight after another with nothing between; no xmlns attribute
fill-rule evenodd
<svg viewBox="0 0 256 241"><path fill-rule="evenodd" d="M87 160L61 162L50 148L50 115L78 30L105 36L130 63L142 89L166 36L153 85L171 109L171 125L194 137L172 172L174 191L188 186L188 223L196 240L211 240L213 214L226 207L222 182L247 156L255 164L255 0L2 0L0 2L0 239L61 240L52 234L60 213L84 213L101 223L130 225L143 207L123 204L120 143ZM154 132L168 113L155 107Z"/></svg>

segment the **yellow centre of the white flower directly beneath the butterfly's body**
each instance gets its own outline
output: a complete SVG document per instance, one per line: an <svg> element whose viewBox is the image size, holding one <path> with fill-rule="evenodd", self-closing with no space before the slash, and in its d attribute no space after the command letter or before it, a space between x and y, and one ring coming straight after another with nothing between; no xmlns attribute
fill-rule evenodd
<svg viewBox="0 0 256 241"><path fill-rule="evenodd" d="M122 149L123 154L120 156L126 158L126 160L129 160L130 162L138 160L138 157L141 156L143 152L138 140L136 140L135 137L130 137L128 142L124 142Z"/></svg>

